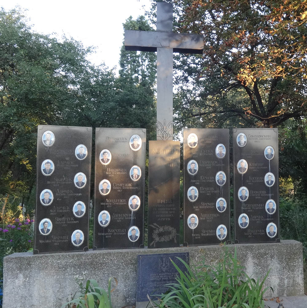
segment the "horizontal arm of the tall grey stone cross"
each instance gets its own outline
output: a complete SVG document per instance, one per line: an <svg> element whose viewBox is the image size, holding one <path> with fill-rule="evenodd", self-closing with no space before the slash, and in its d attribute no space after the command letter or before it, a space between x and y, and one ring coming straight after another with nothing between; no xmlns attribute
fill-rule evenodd
<svg viewBox="0 0 307 308"><path fill-rule="evenodd" d="M126 50L157 51L157 47L172 48L173 52L202 54L204 39L201 34L125 30Z"/></svg>

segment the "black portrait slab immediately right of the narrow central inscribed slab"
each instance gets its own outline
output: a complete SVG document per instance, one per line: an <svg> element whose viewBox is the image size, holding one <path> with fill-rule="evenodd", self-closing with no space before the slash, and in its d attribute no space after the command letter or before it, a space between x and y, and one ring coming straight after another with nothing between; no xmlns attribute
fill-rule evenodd
<svg viewBox="0 0 307 308"><path fill-rule="evenodd" d="M230 241L229 130L184 129L184 243Z"/></svg>

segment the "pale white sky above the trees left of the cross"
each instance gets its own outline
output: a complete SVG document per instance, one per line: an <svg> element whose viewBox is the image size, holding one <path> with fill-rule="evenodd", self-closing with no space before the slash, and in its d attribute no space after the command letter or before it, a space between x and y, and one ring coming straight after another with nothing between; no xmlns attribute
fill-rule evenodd
<svg viewBox="0 0 307 308"><path fill-rule="evenodd" d="M123 43L123 22L132 15L136 19L150 8L150 0L71 1L71 0L7 0L5 10L21 6L36 32L59 37L65 34L81 41L84 47L96 46L89 60L111 68L118 65Z"/></svg>

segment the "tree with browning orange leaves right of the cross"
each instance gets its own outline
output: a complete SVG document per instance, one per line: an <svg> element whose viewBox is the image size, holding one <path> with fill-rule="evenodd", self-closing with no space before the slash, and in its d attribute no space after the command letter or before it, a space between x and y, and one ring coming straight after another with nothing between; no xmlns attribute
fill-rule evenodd
<svg viewBox="0 0 307 308"><path fill-rule="evenodd" d="M235 117L249 127L277 127L305 114L306 1L176 0L173 6L179 31L204 35L202 58L177 58L184 74L176 81L188 83L179 87L184 121Z"/></svg>

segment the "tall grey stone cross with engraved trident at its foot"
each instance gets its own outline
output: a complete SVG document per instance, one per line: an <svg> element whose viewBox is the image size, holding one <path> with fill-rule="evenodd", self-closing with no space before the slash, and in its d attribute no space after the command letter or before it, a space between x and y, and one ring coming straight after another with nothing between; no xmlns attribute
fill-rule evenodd
<svg viewBox="0 0 307 308"><path fill-rule="evenodd" d="M157 51L157 140L173 140L173 52L202 54L201 34L173 33L173 6L157 3L157 31L125 30L125 48Z"/></svg>

